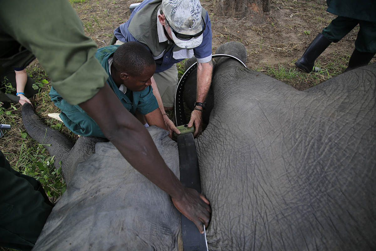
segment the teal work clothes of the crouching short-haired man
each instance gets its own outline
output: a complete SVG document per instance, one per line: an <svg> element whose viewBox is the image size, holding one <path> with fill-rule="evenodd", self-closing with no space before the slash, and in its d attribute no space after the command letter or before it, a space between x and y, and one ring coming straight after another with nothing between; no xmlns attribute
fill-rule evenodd
<svg viewBox="0 0 376 251"><path fill-rule="evenodd" d="M136 110L138 110L141 114L145 115L154 111L158 108L158 102L153 94L153 88L151 86L146 87L143 91L127 90L124 94L116 86L114 80L109 74L110 69L108 59L114 55L117 47L119 46L111 45L99 48L95 55L109 75L109 78L107 79L108 84L110 85L111 89L114 90L120 102L128 111L130 111L130 113L135 114ZM60 118L72 132L82 136L105 137L97 123L91 119L91 117L89 117L85 111L80 108L80 106L70 105L53 87L50 91L50 97L55 105L61 110L61 114L59 115Z"/></svg>

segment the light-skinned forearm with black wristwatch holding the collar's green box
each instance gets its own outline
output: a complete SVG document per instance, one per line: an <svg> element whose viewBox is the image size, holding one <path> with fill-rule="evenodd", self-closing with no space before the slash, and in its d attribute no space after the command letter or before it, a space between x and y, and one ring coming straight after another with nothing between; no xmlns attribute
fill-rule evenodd
<svg viewBox="0 0 376 251"><path fill-rule="evenodd" d="M205 102L206 96L211 83L211 76L213 70L213 63L209 61L207 63L197 63L197 94L196 102ZM195 106L196 108L202 110L201 106ZM194 123L195 131L193 136L197 138L201 134L202 128L202 112L198 110L193 110L191 113L191 120L188 123L188 127L192 127Z"/></svg>

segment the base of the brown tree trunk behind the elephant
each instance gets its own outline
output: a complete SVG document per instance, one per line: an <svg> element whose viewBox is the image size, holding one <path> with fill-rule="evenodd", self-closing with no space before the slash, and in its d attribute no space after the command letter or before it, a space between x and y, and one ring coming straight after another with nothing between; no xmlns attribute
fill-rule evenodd
<svg viewBox="0 0 376 251"><path fill-rule="evenodd" d="M264 23L264 12L270 11L270 0L217 0L214 12L220 16L246 18Z"/></svg>

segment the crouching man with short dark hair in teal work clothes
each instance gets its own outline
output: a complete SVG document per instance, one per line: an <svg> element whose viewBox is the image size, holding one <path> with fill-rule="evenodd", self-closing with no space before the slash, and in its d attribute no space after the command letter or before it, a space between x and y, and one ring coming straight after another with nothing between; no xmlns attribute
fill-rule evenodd
<svg viewBox="0 0 376 251"><path fill-rule="evenodd" d="M150 78L155 72L152 54L140 43L127 42L120 46L99 48L95 57L105 68L108 84L121 103L145 127L156 125L166 129L158 102L153 95ZM105 138L97 123L78 105L70 105L52 87L51 100L60 108L60 118L72 132L83 136Z"/></svg>

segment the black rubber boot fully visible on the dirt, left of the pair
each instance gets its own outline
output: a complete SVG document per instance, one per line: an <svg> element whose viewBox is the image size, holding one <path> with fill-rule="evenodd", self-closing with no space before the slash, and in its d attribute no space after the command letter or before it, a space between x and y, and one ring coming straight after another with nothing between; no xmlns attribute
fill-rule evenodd
<svg viewBox="0 0 376 251"><path fill-rule="evenodd" d="M316 58L318 58L318 56L320 56L331 43L332 40L324 37L323 34L318 33L318 35L303 53L303 56L295 62L295 65L308 73L315 71L314 67Z"/></svg>

